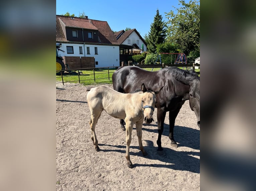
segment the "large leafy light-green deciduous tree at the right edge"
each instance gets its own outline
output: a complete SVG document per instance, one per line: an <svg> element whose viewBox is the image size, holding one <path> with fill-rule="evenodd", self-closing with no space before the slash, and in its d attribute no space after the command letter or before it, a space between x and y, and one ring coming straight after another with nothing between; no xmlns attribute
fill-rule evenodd
<svg viewBox="0 0 256 191"><path fill-rule="evenodd" d="M191 0L185 3L179 0L182 7L175 8L177 14L173 11L166 13L169 19L167 22L167 41L177 44L181 52L191 57L199 57L200 54L200 5L197 0ZM192 53L193 52L193 53Z"/></svg>

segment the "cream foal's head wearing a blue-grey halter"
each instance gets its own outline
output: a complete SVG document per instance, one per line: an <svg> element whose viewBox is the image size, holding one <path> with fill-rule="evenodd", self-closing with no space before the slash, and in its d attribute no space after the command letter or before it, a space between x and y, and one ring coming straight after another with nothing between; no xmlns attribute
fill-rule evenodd
<svg viewBox="0 0 256 191"><path fill-rule="evenodd" d="M153 120L153 112L156 104L156 94L158 94L163 87L159 88L157 91L152 91L152 90L147 90L145 85L141 85L141 91L143 92L142 94L142 111L144 114L144 121L149 124Z"/></svg>

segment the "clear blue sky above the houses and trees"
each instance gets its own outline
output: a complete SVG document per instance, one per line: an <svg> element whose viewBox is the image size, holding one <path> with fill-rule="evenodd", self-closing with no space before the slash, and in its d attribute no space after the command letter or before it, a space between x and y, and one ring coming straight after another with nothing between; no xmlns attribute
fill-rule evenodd
<svg viewBox="0 0 256 191"><path fill-rule="evenodd" d="M89 19L107 21L113 31L135 28L144 37L150 31L157 9L166 21L165 12L175 13L174 7L180 7L178 4L178 0L56 0L56 15L69 12L78 17L84 12Z"/></svg>

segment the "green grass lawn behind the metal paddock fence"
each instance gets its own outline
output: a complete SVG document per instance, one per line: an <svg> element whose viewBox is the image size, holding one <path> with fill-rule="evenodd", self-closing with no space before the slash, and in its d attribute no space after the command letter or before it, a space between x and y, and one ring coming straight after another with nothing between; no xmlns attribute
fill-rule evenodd
<svg viewBox="0 0 256 191"><path fill-rule="evenodd" d="M180 67L182 69L182 67ZM143 68L144 70L151 71L152 68ZM154 71L158 71L161 68L154 68ZM185 68L184 68L185 69ZM94 85L94 84L112 84L112 75L116 71L116 69L109 69L109 74L108 74L108 69L96 69L95 70L95 82L94 82L94 75L93 75L93 70L82 70L83 74L80 74L80 83L84 85ZM200 69L195 69L196 72L200 72ZM108 79L109 75L109 79ZM200 75L199 75L200 76ZM78 73L72 71L72 74L69 74L65 72L63 74L63 81L64 82L71 82L71 83L79 83L78 82ZM75 82L72 82L75 81ZM61 76L56 76L56 82L60 83L62 82Z"/></svg>

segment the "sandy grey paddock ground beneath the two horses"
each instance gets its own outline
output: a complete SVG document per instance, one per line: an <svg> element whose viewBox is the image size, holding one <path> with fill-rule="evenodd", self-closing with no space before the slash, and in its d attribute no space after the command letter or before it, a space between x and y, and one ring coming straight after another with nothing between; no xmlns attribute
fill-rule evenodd
<svg viewBox="0 0 256 191"><path fill-rule="evenodd" d="M112 85L109 85L112 87ZM168 113L162 134L165 156L157 154L157 122L142 126L138 147L135 125L130 157L134 168L126 166L125 131L119 119L105 111L96 125L100 152L94 150L90 130L87 88L79 84L56 84L56 190L200 190L200 129L196 115L186 101L174 127L178 147L170 145Z"/></svg>

